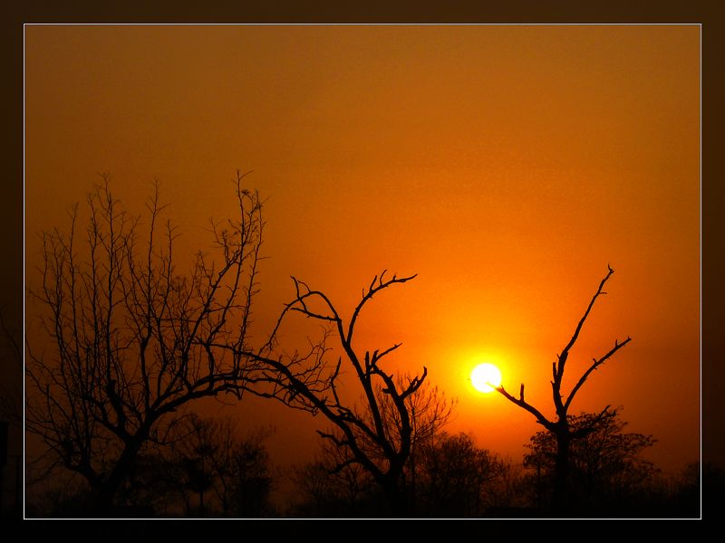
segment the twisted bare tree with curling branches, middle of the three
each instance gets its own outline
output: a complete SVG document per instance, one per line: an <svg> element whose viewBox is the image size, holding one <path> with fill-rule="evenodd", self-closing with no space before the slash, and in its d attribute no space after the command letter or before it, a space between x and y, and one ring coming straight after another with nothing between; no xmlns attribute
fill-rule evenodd
<svg viewBox="0 0 725 543"><path fill-rule="evenodd" d="M365 305L384 289L415 277L393 275L391 279L385 279L385 273L383 271L380 277L376 275L367 291L363 289L362 299L347 323L322 291L314 291L303 281L293 278L295 299L285 305L266 349L256 353L269 368L263 378L274 382L275 386L266 392L257 389L256 394L275 397L286 405L312 414L323 414L333 424L333 431L319 431L320 435L347 452L335 469L360 464L384 491L391 512L400 515L406 510L401 481L414 435L409 400L419 391L428 370L423 367L420 376L396 380L391 371L381 366L381 361L400 348L400 343L384 350L358 351L353 347L355 325ZM294 312L322 322L329 329L322 341L314 343L306 355L275 355L276 334L287 316ZM324 357L329 350L326 341L330 335L339 340L345 366L353 370L354 382L362 388L362 405L350 404L342 397L343 357L333 364ZM306 372L300 367L306 368ZM314 378L305 382L295 376L295 372Z"/></svg>

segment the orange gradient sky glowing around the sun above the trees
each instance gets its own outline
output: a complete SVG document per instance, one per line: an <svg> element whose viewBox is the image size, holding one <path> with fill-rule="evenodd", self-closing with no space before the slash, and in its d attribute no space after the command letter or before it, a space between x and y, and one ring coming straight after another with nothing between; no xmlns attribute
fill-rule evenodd
<svg viewBox="0 0 725 543"><path fill-rule="evenodd" d="M402 341L391 367L458 398L449 431L518 462L540 427L470 369L495 362L552 414L551 363L609 263L569 386L633 341L572 411L623 405L662 468L698 458L699 26L33 25L24 83L28 286L35 233L67 225L97 173L137 212L158 177L191 252L254 170L260 334L290 275L349 314L376 273L419 273L376 297L358 345ZM275 424L279 462L316 448L306 414L227 411Z"/></svg>

